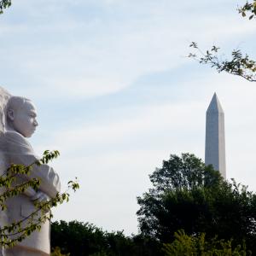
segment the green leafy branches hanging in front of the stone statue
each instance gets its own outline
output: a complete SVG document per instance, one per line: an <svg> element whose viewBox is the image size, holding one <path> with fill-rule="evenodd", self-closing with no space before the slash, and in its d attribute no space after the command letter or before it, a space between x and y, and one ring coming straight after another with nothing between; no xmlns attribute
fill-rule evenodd
<svg viewBox="0 0 256 256"><path fill-rule="evenodd" d="M0 194L0 207L2 209L2 214L3 211L8 210L6 207L6 201L9 198L23 194L26 189L32 188L37 191L39 188L40 180L38 178L31 178L26 182L17 183L17 177L22 177L23 175L26 177L29 176L34 165L40 166L42 164L47 164L50 160L55 159L59 154L60 153L58 151L50 152L49 150L46 150L44 151L43 158L41 160L36 160L30 166L15 164L9 166L8 170L0 177L0 189L2 192L2 194ZM41 225L52 218L50 209L69 200L68 191L70 189L76 191L76 189L79 189L79 183L76 180L70 181L65 193L58 193L55 198L51 198L49 201L35 202L35 212L32 212L26 218L0 227L0 236L2 238L0 240L0 245L3 247L13 246L17 241L22 241L26 236L30 236L33 231L40 230Z"/></svg>

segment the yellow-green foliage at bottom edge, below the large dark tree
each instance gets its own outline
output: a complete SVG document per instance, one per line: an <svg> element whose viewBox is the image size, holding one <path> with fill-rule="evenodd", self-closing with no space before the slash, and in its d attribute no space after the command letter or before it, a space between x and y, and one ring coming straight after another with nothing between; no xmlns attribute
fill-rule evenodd
<svg viewBox="0 0 256 256"><path fill-rule="evenodd" d="M247 251L245 243L238 246L232 245L232 240L224 241L213 238L206 241L206 235L188 236L184 230L178 230L174 234L175 240L172 243L164 244L166 256L248 256L251 252Z"/></svg>

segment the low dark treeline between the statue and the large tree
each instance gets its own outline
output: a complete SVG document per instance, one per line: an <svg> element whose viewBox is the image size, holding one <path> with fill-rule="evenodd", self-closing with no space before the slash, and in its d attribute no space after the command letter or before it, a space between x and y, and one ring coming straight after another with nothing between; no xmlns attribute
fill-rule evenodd
<svg viewBox="0 0 256 256"><path fill-rule="evenodd" d="M147 236L125 236L122 231L107 232L93 224L78 221L51 224L51 246L71 256L158 256L160 243Z"/></svg>

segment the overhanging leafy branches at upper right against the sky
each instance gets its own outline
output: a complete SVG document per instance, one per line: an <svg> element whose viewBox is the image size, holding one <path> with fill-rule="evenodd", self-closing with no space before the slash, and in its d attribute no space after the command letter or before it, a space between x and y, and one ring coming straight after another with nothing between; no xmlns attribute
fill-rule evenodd
<svg viewBox="0 0 256 256"><path fill-rule="evenodd" d="M256 17L256 0L253 2L245 3L238 12L242 17L247 17L252 20ZM250 82L256 82L256 61L249 58L247 54L242 54L241 49L233 49L231 52L231 58L223 60L218 55L219 47L212 45L211 49L202 51L198 44L192 42L189 45L192 49L195 49L193 53L189 53L190 58L194 58L201 64L207 64L217 69L218 73L226 72L239 76L243 79L247 79Z"/></svg>

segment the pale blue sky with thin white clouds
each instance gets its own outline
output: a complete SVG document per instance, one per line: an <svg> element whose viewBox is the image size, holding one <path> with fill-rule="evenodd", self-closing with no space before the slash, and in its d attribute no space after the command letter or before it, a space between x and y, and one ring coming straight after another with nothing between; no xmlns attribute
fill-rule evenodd
<svg viewBox="0 0 256 256"><path fill-rule="evenodd" d="M80 189L54 219L137 234L137 196L170 154L204 159L205 114L216 92L225 112L227 177L256 191L256 84L186 57L194 41L256 59L243 1L14 0L0 15L0 85L38 108L29 139L62 190Z"/></svg>

